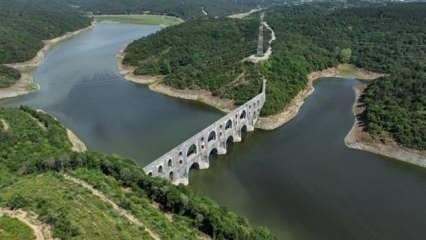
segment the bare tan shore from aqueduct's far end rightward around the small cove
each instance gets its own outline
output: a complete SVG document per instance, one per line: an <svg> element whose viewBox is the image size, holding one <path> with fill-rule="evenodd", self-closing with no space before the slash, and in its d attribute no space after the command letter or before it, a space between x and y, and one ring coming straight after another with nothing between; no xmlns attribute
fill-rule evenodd
<svg viewBox="0 0 426 240"><path fill-rule="evenodd" d="M293 119L300 108L303 106L305 99L309 97L315 90L313 83L315 80L327 77L342 77L342 78L356 78L362 80L374 80L383 76L380 73L369 72L361 68L356 68L352 65L341 64L337 67L328 68L322 71L312 72L307 75L308 84L305 89L300 91L293 100L284 107L283 111L268 117L261 117L256 123L256 128L263 130L274 130L291 119Z"/></svg>

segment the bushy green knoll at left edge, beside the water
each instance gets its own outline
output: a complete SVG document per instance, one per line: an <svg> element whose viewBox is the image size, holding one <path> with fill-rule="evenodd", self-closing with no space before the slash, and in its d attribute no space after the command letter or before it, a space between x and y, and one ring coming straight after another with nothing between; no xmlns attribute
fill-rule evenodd
<svg viewBox="0 0 426 240"><path fill-rule="evenodd" d="M9 131L0 131L0 164L13 171L29 171L26 162L70 151L66 129L50 115L28 107L0 109ZM42 124L44 127L41 127Z"/></svg>

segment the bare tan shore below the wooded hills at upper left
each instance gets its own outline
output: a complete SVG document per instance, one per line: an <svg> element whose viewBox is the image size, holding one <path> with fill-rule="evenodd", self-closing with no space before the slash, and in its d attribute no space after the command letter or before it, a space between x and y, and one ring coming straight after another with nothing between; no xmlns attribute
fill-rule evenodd
<svg viewBox="0 0 426 240"><path fill-rule="evenodd" d="M24 95L32 91L38 90L40 87L38 86L38 84L33 82L32 72L34 71L35 68L38 67L38 65L40 65L40 63L43 61L48 51L52 47L57 45L58 43L68 40L82 32L92 29L95 26L95 24L96 24L96 21L93 20L90 26L88 27L82 28L74 32L66 33L54 39L43 41L44 47L40 51L38 51L37 55L31 60L28 60L22 63L5 64L6 66L15 68L16 70L21 72L21 78L11 87L0 88L0 99L16 97L16 96Z"/></svg>

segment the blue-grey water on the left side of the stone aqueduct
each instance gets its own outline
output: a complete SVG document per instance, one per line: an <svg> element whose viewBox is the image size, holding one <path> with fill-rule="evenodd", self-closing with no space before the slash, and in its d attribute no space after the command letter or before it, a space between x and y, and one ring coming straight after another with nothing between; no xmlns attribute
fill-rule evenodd
<svg viewBox="0 0 426 240"><path fill-rule="evenodd" d="M34 73L40 91L0 102L43 109L75 132L90 150L146 165L222 113L165 97L123 79L116 55L158 26L98 23L53 48Z"/></svg>

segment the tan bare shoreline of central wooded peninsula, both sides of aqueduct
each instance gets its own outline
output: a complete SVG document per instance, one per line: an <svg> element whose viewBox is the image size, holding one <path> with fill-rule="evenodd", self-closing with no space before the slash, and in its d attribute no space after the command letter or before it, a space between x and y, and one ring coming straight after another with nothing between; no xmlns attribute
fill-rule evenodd
<svg viewBox="0 0 426 240"><path fill-rule="evenodd" d="M176 89L162 84L161 80L163 79L163 76L135 75L133 73L136 69L135 67L124 65L122 63L124 57L125 52L123 49L117 55L117 67L119 73L127 81L134 82L136 84L148 85L148 88L151 91L166 96L204 103L225 113L230 112L238 107L234 104L232 99L213 96L212 93L207 90ZM375 80L384 75L385 74L370 72L362 68L357 68L351 64L339 64L336 67L311 72L306 76L308 78L306 87L299 91L299 93L291 100L289 104L283 108L280 113L267 117L259 117L255 128L261 130L275 130L296 117L296 115L299 113L299 110L302 108L305 99L315 91L313 83L317 79L341 77L356 78L360 80Z"/></svg>

